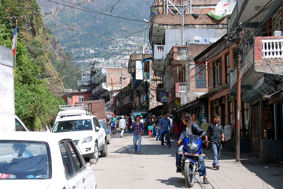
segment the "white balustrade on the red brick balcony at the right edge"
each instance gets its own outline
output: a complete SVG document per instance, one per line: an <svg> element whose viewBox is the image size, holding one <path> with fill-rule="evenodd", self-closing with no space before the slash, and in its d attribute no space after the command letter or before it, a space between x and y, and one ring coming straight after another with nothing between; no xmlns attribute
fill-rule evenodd
<svg viewBox="0 0 283 189"><path fill-rule="evenodd" d="M283 58L283 39L263 39L263 58Z"/></svg>

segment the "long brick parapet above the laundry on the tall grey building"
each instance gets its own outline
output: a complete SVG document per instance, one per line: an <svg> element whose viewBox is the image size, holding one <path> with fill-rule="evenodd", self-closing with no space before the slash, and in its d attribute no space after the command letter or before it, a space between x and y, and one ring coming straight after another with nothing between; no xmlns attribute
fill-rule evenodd
<svg viewBox="0 0 283 189"><path fill-rule="evenodd" d="M153 22L162 23L162 24L181 24L181 17L179 14L156 14L153 15ZM185 25L196 25L196 24L205 24L205 25L215 25L215 24L227 24L227 19L223 18L221 20L215 20L209 17L207 14L200 14L199 18L194 18L191 14L185 14L184 16ZM160 25L160 24L153 24Z"/></svg>

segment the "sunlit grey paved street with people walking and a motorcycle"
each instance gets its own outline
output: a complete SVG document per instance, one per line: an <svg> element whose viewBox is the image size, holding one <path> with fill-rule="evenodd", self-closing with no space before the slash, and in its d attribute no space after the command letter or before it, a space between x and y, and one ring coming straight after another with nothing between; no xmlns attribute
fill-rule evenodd
<svg viewBox="0 0 283 189"><path fill-rule="evenodd" d="M141 155L134 153L133 132L121 131L112 135L108 145L107 157L99 158L94 166L97 188L185 188L185 179L176 173L175 152L177 139L171 138L168 148L155 138L149 138L147 132L142 136ZM220 169L212 168L212 151L206 154L205 165L209 184L203 184L203 178L196 175L193 188L283 188L282 164L266 164L260 158L251 158L241 153L241 162L235 162L235 152L223 151L220 155ZM269 166L268 168L264 168Z"/></svg>

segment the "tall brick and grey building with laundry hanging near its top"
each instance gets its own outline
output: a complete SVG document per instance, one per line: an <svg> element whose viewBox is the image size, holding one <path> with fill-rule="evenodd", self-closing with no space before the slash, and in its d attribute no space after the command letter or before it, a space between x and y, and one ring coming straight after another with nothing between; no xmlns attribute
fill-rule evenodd
<svg viewBox="0 0 283 189"><path fill-rule="evenodd" d="M175 113L181 114L186 107L190 113L197 112L198 120L206 116L207 110L203 103L194 107L189 103L205 94L208 87L206 66L202 63L196 65L194 57L227 32L226 19L215 20L205 14L215 10L218 2L155 0L151 7L151 12L157 14L151 14L153 23L149 38L153 49L154 75L163 81L162 86L156 90L157 99L163 104L163 112L172 113L181 105ZM198 69L199 67L202 69ZM197 87L196 76L201 77L198 81L203 82L202 85L198 82Z"/></svg>

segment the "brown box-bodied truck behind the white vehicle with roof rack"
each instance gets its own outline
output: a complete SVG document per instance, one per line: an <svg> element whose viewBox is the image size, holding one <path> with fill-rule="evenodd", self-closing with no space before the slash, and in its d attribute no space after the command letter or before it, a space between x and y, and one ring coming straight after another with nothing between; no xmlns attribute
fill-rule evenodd
<svg viewBox="0 0 283 189"><path fill-rule="evenodd" d="M96 116L98 120L105 120L105 101L104 100L90 100L90 101L82 101L76 102L76 105L84 104L87 105L91 114Z"/></svg>

